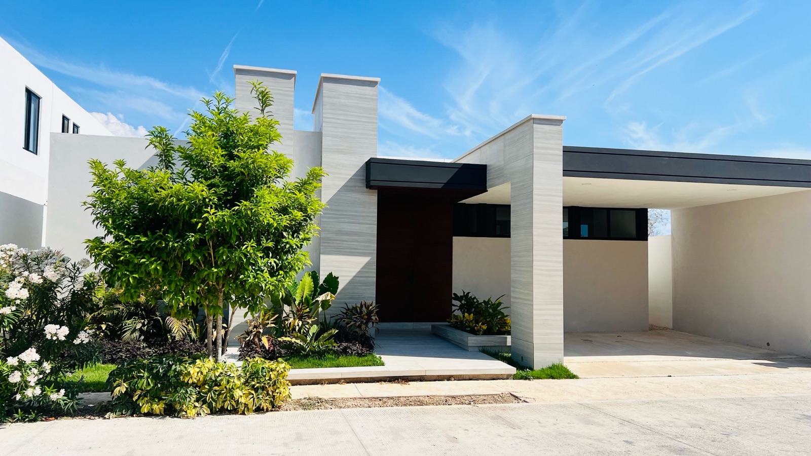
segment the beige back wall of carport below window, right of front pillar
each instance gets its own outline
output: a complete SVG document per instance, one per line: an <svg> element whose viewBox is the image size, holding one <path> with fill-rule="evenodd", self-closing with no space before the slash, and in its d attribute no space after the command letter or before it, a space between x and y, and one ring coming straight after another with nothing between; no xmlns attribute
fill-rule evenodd
<svg viewBox="0 0 811 456"><path fill-rule="evenodd" d="M648 247L641 241L563 241L564 330L648 329Z"/></svg>

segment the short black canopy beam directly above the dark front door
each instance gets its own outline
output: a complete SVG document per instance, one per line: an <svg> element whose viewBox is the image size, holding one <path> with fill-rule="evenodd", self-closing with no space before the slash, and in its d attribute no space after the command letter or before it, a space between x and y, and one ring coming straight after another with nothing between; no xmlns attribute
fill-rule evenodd
<svg viewBox="0 0 811 456"><path fill-rule="evenodd" d="M366 187L487 191L487 165L370 158Z"/></svg>

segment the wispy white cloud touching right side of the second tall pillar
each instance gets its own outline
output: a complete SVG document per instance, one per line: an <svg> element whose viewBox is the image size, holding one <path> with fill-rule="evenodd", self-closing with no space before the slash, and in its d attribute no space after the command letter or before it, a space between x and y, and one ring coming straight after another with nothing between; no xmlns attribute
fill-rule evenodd
<svg viewBox="0 0 811 456"><path fill-rule="evenodd" d="M405 128L435 140L443 136L465 136L468 134L457 125L447 123L417 110L410 102L397 97L397 95L382 86L378 88L377 105L378 113L383 120L383 127L387 126L387 122L393 123L397 127Z"/></svg>

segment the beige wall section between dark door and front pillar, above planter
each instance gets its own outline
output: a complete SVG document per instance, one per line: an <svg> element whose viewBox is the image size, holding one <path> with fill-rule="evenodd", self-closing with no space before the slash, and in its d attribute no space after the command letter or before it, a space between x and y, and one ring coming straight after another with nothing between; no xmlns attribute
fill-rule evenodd
<svg viewBox="0 0 811 456"><path fill-rule="evenodd" d="M509 238L453 238L453 292L510 305ZM449 298L448 298L449 299ZM510 309L506 311L510 313Z"/></svg>

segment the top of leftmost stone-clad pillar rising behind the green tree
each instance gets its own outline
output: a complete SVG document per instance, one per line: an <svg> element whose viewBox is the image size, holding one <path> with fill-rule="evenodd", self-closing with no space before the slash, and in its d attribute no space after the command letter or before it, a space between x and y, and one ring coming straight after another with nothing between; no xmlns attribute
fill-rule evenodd
<svg viewBox="0 0 811 456"><path fill-rule="evenodd" d="M237 98L234 105L242 112L250 110L254 118L259 115L259 111L256 110L256 100L251 95L251 81L259 80L264 87L270 89L273 97L270 111L272 117L279 121L277 128L281 133L281 143L272 144L271 148L293 158L293 92L296 87L296 71L234 65L234 76Z"/></svg>

